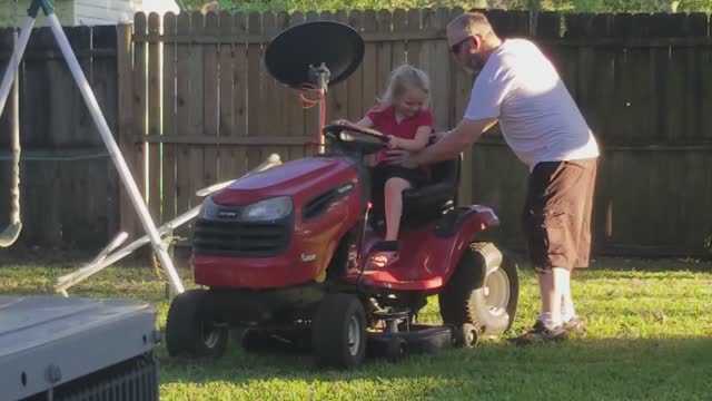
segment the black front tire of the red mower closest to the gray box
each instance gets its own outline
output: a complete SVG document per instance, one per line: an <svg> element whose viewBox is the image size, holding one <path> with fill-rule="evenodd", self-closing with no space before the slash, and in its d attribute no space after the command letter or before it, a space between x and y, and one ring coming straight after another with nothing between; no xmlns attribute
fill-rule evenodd
<svg viewBox="0 0 712 401"><path fill-rule="evenodd" d="M228 329L202 319L205 290L178 294L168 310L166 345L170 356L220 358L228 342Z"/></svg>

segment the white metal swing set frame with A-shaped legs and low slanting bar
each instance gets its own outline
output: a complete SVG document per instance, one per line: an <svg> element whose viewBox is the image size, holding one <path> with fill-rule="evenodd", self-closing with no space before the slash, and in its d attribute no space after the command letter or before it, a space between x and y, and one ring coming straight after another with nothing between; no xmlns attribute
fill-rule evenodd
<svg viewBox="0 0 712 401"><path fill-rule="evenodd" d="M169 235L175 228L178 226L188 223L194 217L198 215L200 206L196 206L190 211L181 214L175 219L164 224L161 227L157 228L156 223L151 218L146 204L139 193L138 186L136 185L136 180L134 179L131 172L126 164L126 159L121 155L121 151L111 135L111 130L101 113L99 104L87 81L87 78L83 75L83 71L77 60L76 55L73 53L69 40L65 35L65 31L61 28L59 19L55 14L55 8L52 6L51 0L31 0L31 4L27 10L27 17L22 22L20 28L19 38L16 32L16 41L14 49L12 52L12 57L10 59L10 63L6 69L6 72L2 77L2 81L0 84L0 115L4 110L6 102L10 95L10 91L13 90L13 110L12 110L12 179L11 179L11 209L10 209L10 224L2 232L0 232L0 247L9 247L11 246L19 237L20 232L22 229L22 222L20 218L20 187L19 187L19 162L20 162L20 139L19 139L19 89L18 89L18 70L20 66L20 60L24 55L24 50L27 48L27 43L30 39L30 35L32 32L32 28L34 27L34 22L40 10L44 13L48 25L59 45L61 53L67 61L69 70L77 84L81 96L87 104L91 118L96 124L99 134L108 149L109 156L116 166L119 176L121 178L121 183L123 184L131 204L137 212L141 225L146 232L146 235L141 238L134 241L132 243L126 245L121 250L113 252L118 246L120 246L126 239L127 234L120 233L115 237L109 245L107 245L97 257L90 263L86 264L81 268L77 270L73 273L67 274L61 277L55 278L55 290L58 293L68 296L67 290L81 282L82 280L88 278L90 275L98 273L102 268L118 262L119 260L128 256L134 251L138 250L142 245L150 242L151 247L168 278L168 283L170 285L171 293L174 295L182 293L184 286L178 276L174 263L167 252L167 247L170 244L170 238L167 241L161 241L161 236ZM254 173L265 170L267 168L274 167L281 164L281 160L278 155L270 155L263 164L248 172L246 175L251 175ZM211 193L215 193L234 180L225 182L220 184L215 184L210 187L202 188L197 192L198 196L207 196Z"/></svg>

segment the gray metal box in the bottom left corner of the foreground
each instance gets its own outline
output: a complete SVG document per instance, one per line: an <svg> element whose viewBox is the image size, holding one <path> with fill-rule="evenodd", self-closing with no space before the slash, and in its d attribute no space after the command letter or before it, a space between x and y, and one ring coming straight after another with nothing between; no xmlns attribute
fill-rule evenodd
<svg viewBox="0 0 712 401"><path fill-rule="evenodd" d="M156 400L158 341L145 302L0 296L0 400Z"/></svg>

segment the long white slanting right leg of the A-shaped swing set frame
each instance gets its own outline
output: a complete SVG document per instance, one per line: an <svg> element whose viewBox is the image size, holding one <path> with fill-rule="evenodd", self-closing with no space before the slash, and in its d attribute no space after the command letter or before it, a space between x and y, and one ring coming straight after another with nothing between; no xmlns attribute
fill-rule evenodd
<svg viewBox="0 0 712 401"><path fill-rule="evenodd" d="M138 213L141 225L144 226L144 229L146 231L151 242L154 252L158 256L161 266L166 271L172 291L175 294L180 294L185 291L182 283L180 282L180 277L176 272L176 267L174 267L174 263L170 260L170 256L168 256L168 252L164 250L160 241L160 235L158 234L158 229L156 228L156 224L148 213L148 208L146 207L144 199L141 198L138 186L136 185L136 182L131 176L131 172L129 170L129 167L127 166L126 160L123 159L123 156L119 150L119 146L116 144L116 140L113 140L111 130L109 129L109 126L107 125L107 121L101 114L99 104L97 102L97 99L93 96L93 91L91 90L91 87L89 86L89 82L87 81L87 78L81 70L81 67L79 66L79 61L77 60L77 57L75 56L71 46L69 45L69 40L67 40L67 36L65 35L65 31L62 30L62 27L53 12L47 16L47 21L49 22L49 26L55 33L55 38L57 39L62 55L65 56L65 60L67 60L67 65L69 65L69 69L75 77L75 81L77 82L77 86L81 91L85 102L87 104L87 107L89 107L91 117L93 118L97 128L99 128L99 134L101 134L101 138L103 139L103 143L109 150L109 155L111 156L111 159L113 160L113 164L119 172L119 176L121 177L123 186L129 193L129 197L131 199L131 203L134 204L134 208Z"/></svg>

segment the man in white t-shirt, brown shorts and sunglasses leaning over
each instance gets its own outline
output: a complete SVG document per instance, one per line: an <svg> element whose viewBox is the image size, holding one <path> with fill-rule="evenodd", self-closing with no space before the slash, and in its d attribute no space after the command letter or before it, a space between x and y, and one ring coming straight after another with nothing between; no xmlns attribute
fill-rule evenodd
<svg viewBox="0 0 712 401"><path fill-rule="evenodd" d="M390 160L427 165L457 157L498 121L530 169L522 223L542 297L536 323L513 341L581 332L570 277L573 268L589 266L596 140L554 66L531 41L502 41L484 14L467 12L447 26L447 42L463 68L479 71L465 116L435 145L417 154L394 151Z"/></svg>

